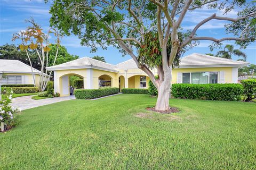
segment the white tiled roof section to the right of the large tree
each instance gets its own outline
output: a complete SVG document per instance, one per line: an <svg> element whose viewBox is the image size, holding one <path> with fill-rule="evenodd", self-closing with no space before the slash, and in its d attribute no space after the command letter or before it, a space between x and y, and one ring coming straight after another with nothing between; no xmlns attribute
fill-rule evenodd
<svg viewBox="0 0 256 170"><path fill-rule="evenodd" d="M229 60L221 57L214 57L205 54L193 53L181 58L179 68L191 67L242 67L249 63L243 61Z"/></svg>

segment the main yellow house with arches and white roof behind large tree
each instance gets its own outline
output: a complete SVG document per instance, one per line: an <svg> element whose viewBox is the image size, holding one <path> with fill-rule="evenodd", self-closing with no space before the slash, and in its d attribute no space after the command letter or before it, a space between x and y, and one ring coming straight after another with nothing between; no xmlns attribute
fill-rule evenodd
<svg viewBox="0 0 256 170"><path fill-rule="evenodd" d="M180 67L173 69L172 83L237 83L238 67L247 62L203 54L183 57ZM84 80L84 89L110 86L123 88L148 88L149 77L138 69L131 59L112 65L89 57L47 68L54 71L54 91L60 96L69 95L69 76L77 75ZM153 70L156 75L157 70Z"/></svg>

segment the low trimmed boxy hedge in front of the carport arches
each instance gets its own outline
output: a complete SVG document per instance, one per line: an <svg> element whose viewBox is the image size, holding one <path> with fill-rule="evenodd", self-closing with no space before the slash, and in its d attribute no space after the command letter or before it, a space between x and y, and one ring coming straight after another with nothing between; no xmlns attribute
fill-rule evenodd
<svg viewBox="0 0 256 170"><path fill-rule="evenodd" d="M76 99L95 99L103 96L118 94L119 88L102 88L102 89L76 89Z"/></svg>

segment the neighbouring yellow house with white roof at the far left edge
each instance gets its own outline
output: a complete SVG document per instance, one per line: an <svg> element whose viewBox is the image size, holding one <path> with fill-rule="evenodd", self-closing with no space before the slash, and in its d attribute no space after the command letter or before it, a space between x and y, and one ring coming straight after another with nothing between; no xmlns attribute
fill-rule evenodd
<svg viewBox="0 0 256 170"><path fill-rule="evenodd" d="M0 60L0 72L4 75L0 84L34 84L31 67L18 60ZM39 85L40 71L33 68L36 87Z"/></svg>

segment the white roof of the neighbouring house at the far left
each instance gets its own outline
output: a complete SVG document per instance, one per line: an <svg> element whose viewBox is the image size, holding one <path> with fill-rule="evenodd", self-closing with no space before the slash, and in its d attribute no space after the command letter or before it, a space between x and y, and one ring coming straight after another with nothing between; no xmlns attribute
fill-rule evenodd
<svg viewBox="0 0 256 170"><path fill-rule="evenodd" d="M28 73L31 74L31 67L18 60L0 60L0 71L3 73ZM33 68L35 74L40 71Z"/></svg>

